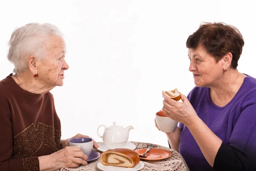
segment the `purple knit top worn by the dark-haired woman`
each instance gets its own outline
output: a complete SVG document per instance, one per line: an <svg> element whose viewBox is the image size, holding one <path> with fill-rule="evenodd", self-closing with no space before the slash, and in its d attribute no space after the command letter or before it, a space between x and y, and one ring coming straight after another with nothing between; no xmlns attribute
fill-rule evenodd
<svg viewBox="0 0 256 171"><path fill-rule="evenodd" d="M224 107L212 103L208 87L195 87L188 99L198 116L223 143L256 161L256 79L247 76L239 91ZM182 123L179 128L179 152L189 170L213 171L189 129Z"/></svg>

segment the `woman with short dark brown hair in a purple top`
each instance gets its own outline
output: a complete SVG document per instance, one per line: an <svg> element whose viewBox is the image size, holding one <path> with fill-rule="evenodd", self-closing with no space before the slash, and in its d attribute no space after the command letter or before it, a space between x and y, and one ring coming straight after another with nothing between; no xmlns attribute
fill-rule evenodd
<svg viewBox="0 0 256 171"><path fill-rule="evenodd" d="M256 170L256 79L237 70L244 40L233 26L203 23L186 42L196 87L183 102L165 97L166 133L191 171Z"/></svg>

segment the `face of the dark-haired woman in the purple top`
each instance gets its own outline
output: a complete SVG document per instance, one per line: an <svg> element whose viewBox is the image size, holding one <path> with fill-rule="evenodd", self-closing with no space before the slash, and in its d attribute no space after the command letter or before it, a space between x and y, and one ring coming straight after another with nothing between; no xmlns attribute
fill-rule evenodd
<svg viewBox="0 0 256 171"><path fill-rule="evenodd" d="M215 58L209 55L202 47L196 50L189 49L189 71L194 75L195 85L198 87L211 87L218 84L223 74L222 60L216 63Z"/></svg>

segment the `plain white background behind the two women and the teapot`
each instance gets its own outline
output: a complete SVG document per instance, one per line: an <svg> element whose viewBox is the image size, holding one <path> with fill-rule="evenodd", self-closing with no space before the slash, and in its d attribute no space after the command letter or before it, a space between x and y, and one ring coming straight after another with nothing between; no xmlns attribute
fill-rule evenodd
<svg viewBox="0 0 256 171"><path fill-rule="evenodd" d="M134 126L129 141L168 146L154 126L162 90L187 95L186 39L202 21L236 26L245 45L239 71L256 77L255 3L234 0L5 0L0 3L0 80L12 70L7 43L27 23L52 23L67 44L64 86L51 90L62 139L97 136L99 125ZM101 129L101 133L103 129Z"/></svg>

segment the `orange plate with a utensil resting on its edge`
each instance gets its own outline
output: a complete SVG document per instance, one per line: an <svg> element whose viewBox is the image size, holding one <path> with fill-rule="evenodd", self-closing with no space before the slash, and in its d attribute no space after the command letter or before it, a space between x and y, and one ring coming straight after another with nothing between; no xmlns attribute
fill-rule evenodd
<svg viewBox="0 0 256 171"><path fill-rule="evenodd" d="M135 150L135 151L139 155L143 155L145 153L146 149L147 148L142 148L142 149L138 149L138 150ZM151 148L151 150L146 153L147 158L140 157L140 159L157 161L157 160L166 159L170 156L171 156L170 151L163 150L163 149L160 149L160 148Z"/></svg>

